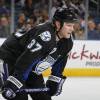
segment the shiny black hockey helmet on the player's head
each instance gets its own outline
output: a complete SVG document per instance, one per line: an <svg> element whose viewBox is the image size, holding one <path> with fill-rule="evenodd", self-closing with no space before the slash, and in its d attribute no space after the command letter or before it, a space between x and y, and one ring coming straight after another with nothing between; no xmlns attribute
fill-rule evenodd
<svg viewBox="0 0 100 100"><path fill-rule="evenodd" d="M78 12L75 8L72 7L58 8L53 16L53 22L54 21L59 21L62 23L62 25L64 22L78 22Z"/></svg>

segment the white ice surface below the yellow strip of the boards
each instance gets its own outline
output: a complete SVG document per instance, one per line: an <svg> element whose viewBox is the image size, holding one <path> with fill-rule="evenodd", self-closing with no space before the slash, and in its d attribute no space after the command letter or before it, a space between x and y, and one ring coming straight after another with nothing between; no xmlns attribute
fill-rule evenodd
<svg viewBox="0 0 100 100"><path fill-rule="evenodd" d="M52 100L100 100L100 77L68 77L62 94Z"/></svg>

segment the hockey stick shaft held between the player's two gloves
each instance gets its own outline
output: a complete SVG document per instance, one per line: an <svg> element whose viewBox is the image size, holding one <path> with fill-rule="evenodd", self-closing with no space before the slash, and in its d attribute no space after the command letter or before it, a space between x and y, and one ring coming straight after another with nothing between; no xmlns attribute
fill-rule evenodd
<svg viewBox="0 0 100 100"><path fill-rule="evenodd" d="M17 90L16 93L34 93L34 92L47 92L49 91L49 88L33 88L33 89L20 89Z"/></svg>

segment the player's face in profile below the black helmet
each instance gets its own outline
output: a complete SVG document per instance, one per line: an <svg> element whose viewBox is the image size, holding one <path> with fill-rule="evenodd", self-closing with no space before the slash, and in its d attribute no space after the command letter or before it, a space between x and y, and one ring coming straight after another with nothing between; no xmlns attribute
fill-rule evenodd
<svg viewBox="0 0 100 100"><path fill-rule="evenodd" d="M59 31L61 38L70 38L71 33L74 31L74 23L64 22L63 27Z"/></svg>

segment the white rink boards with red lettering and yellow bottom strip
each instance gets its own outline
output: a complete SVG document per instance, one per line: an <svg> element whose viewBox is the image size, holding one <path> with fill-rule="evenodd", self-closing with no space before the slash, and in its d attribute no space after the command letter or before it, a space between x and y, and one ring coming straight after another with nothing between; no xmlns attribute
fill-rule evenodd
<svg viewBox="0 0 100 100"><path fill-rule="evenodd" d="M0 44L5 39L0 39ZM48 76L51 70L43 72ZM69 53L65 76L100 76L100 41L74 41Z"/></svg>

